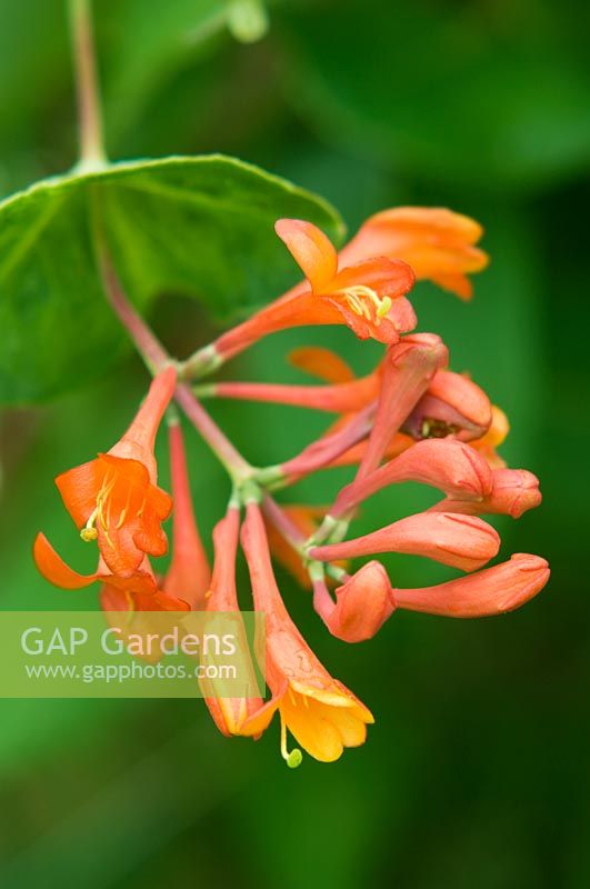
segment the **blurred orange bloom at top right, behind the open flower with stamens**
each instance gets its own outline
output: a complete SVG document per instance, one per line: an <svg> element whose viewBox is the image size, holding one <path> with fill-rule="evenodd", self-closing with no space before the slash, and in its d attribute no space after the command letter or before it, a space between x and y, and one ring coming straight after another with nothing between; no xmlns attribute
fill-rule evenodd
<svg viewBox="0 0 590 889"><path fill-rule="evenodd" d="M488 256L474 244L482 228L472 219L451 210L398 207L370 217L340 253L342 262L361 262L369 257L402 259L418 280L471 299L467 274L488 264Z"/></svg>

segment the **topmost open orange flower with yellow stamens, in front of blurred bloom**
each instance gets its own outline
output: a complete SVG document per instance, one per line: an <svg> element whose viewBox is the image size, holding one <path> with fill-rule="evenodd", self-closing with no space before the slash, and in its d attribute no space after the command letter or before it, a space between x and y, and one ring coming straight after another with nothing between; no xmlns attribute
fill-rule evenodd
<svg viewBox="0 0 590 889"><path fill-rule="evenodd" d="M404 299L413 286L410 267L397 259L372 257L339 269L338 253L311 222L280 219L277 234L307 278L298 287L216 341L218 356L229 357L261 337L308 324L347 324L360 338L397 342L416 327Z"/></svg>

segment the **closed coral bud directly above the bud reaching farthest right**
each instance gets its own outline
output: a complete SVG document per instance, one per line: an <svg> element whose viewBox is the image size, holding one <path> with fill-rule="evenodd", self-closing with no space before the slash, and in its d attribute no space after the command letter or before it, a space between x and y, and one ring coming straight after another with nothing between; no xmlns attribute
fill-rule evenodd
<svg viewBox="0 0 590 889"><path fill-rule="evenodd" d="M493 559L499 548L498 532L474 516L419 512L354 540L316 547L310 556L331 561L374 552L404 552L473 571Z"/></svg>

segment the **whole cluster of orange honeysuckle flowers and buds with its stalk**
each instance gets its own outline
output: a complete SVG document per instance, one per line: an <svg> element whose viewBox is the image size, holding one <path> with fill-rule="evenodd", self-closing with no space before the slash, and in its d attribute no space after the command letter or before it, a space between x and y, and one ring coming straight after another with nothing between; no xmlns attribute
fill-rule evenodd
<svg viewBox="0 0 590 889"><path fill-rule="evenodd" d="M209 681L204 700L226 736L258 738L278 715L281 752L294 767L301 749L328 762L346 747L362 745L373 717L307 645L283 602L273 562L287 567L307 590L302 595L328 631L350 643L372 638L399 609L459 618L510 611L544 587L549 568L541 557L524 553L486 567L501 541L481 517L519 518L539 506L539 483L531 472L508 468L499 456L509 431L501 409L468 376L450 369L440 337L416 331L409 298L416 281L428 279L470 299L468 274L488 261L477 246L478 223L443 209L386 210L369 219L340 253L310 222L282 219L276 230L304 280L183 362L164 351L108 269L111 304L154 368L154 378L120 441L56 479L82 541L98 548L97 570L78 573L41 533L34 559L58 587L74 590L99 581L101 607L128 612L133 626L160 610L238 611L236 560L241 546L253 607L266 615L263 653L271 697L266 702L226 698ZM357 377L341 356L318 346L297 349L289 360L319 383L199 382L274 331L301 326L321 331L326 324L344 324L359 339L383 344L371 373ZM300 453L257 468L216 426L199 397L290 404L336 419ZM212 571L196 521L173 401L232 482L227 512L212 532ZM158 487L153 453L164 416L171 497ZM276 499L282 488L336 466L349 467L351 478L331 506L281 506ZM354 536L359 507L376 492L407 481L437 492L432 506ZM163 523L172 510L172 557L159 577L151 559L167 551ZM381 553L422 556L462 575L433 587L400 589L376 558ZM356 559L367 561L353 567ZM292 749L289 733L298 745Z"/></svg>

